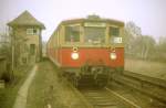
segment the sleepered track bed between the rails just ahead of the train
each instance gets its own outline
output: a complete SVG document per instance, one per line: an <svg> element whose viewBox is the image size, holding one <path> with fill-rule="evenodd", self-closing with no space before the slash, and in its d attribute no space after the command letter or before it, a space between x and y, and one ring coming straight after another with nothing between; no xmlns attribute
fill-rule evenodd
<svg viewBox="0 0 166 108"><path fill-rule="evenodd" d="M142 108L110 88L84 88L80 91L93 108Z"/></svg>

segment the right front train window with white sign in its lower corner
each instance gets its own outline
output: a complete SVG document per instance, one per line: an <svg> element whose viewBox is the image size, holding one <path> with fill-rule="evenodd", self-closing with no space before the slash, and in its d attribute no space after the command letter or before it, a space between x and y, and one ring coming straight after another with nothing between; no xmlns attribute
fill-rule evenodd
<svg viewBox="0 0 166 108"><path fill-rule="evenodd" d="M122 37L120 36L120 28L110 26L110 42L122 43Z"/></svg>

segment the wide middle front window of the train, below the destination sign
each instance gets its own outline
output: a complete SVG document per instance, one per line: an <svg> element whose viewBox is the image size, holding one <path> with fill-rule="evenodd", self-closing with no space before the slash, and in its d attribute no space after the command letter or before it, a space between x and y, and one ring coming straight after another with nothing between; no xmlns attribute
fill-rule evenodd
<svg viewBox="0 0 166 108"><path fill-rule="evenodd" d="M85 28L85 42L103 43L105 42L105 28Z"/></svg>

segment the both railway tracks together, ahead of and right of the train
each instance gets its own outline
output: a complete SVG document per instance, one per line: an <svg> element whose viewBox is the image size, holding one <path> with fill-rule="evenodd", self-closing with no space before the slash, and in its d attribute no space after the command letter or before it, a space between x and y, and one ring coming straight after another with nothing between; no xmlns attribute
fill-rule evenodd
<svg viewBox="0 0 166 108"><path fill-rule="evenodd" d="M105 88L75 89L87 108L166 108L165 80L132 72L113 73Z"/></svg>

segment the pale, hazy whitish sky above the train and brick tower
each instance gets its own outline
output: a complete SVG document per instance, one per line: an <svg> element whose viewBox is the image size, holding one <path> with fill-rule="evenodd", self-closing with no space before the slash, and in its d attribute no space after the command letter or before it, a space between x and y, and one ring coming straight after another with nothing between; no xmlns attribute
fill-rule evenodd
<svg viewBox="0 0 166 108"><path fill-rule="evenodd" d="M0 31L25 10L45 24L44 41L62 20L89 14L133 21L143 35L166 36L166 0L0 0Z"/></svg>

